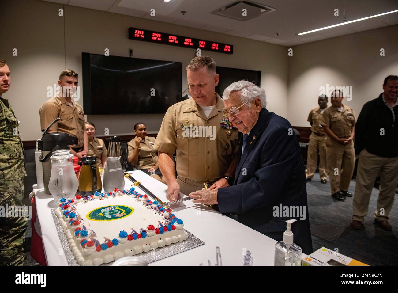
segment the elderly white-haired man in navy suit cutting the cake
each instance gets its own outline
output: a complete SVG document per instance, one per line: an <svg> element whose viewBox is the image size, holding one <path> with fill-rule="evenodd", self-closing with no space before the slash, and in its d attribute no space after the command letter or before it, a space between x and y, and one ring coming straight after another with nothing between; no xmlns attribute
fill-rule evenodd
<svg viewBox="0 0 398 293"><path fill-rule="evenodd" d="M265 91L248 81L232 83L222 98L225 116L240 132L234 184L189 196L194 203L218 204L223 214L238 214L239 222L277 241L283 240L285 221L294 218L294 242L310 254L305 168L291 124L268 112Z"/></svg>

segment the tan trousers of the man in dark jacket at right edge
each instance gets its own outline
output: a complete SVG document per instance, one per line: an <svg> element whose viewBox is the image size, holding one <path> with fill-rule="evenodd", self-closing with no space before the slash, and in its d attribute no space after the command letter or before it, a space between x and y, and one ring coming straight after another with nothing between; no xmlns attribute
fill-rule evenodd
<svg viewBox="0 0 398 293"><path fill-rule="evenodd" d="M380 173L380 187L375 210L376 220L388 220L398 185L398 157L379 157L363 149L359 154L357 184L353 200L353 220L365 219L373 185Z"/></svg>

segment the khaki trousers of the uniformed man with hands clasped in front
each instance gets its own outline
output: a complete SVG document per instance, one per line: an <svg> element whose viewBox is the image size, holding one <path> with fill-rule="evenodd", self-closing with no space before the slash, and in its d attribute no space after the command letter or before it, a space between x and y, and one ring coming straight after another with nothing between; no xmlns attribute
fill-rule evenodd
<svg viewBox="0 0 398 293"><path fill-rule="evenodd" d="M355 167L354 142L351 140L348 144L343 145L328 138L326 140L326 157L328 158L332 194L340 190L348 191Z"/></svg>

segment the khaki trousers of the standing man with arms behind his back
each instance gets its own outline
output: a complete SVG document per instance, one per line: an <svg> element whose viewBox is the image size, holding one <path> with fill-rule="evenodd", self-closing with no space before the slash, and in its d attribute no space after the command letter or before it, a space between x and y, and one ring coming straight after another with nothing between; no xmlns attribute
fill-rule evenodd
<svg viewBox="0 0 398 293"><path fill-rule="evenodd" d="M328 163L326 159L326 139L328 136L317 136L314 133L310 135L307 152L307 169L305 170L306 178L314 177L316 166L318 165L319 152L319 176L322 179L328 179Z"/></svg>

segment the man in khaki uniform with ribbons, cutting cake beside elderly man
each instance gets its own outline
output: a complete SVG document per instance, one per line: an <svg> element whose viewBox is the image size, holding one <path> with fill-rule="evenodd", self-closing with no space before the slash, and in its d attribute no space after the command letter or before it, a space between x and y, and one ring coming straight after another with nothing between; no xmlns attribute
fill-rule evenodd
<svg viewBox="0 0 398 293"><path fill-rule="evenodd" d="M215 92L219 75L213 59L192 59L187 81L191 98L168 108L154 146L170 201L178 198L180 190L188 195L208 185L211 189L232 185L236 169L238 130L223 116L224 101Z"/></svg>

